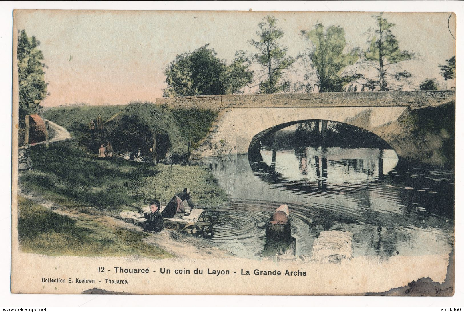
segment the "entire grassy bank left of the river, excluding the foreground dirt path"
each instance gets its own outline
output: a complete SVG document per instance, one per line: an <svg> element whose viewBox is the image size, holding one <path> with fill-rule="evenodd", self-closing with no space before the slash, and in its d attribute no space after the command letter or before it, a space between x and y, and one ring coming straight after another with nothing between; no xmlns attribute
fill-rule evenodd
<svg viewBox="0 0 464 312"><path fill-rule="evenodd" d="M95 120L98 114L108 121L104 131L89 131L90 119ZM99 145L108 141L115 152L130 151L142 143L147 149L153 144L148 142L153 133L161 134L157 144L165 139L166 150L186 153L187 142L202 139L214 113L172 112L153 103L137 102L128 106L59 107L43 112L42 117L64 126L73 138L53 142L48 150L44 145L32 146L33 170L23 172L19 184L73 213L64 216L19 198L19 243L25 252L169 257L165 251L142 242L148 234L110 225L114 219L108 215L123 209L141 212L141 206L150 200L166 202L184 187L192 190L198 206L218 205L226 200L226 193L214 184L205 168L97 157ZM151 158L148 150L142 150L142 154Z"/></svg>

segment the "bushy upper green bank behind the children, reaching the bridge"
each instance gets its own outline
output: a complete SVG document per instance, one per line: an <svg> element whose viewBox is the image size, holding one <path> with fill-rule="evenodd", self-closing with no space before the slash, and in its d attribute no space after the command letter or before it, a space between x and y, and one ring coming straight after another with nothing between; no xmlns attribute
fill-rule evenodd
<svg viewBox="0 0 464 312"><path fill-rule="evenodd" d="M90 119L102 115L104 130L90 132ZM169 150L176 156L187 155L187 142L195 149L217 117L216 111L170 109L152 102L128 105L56 107L42 112L42 117L62 125L80 145L95 152L101 143L110 142L118 152L142 149L148 155L153 133L158 133L157 157Z"/></svg>

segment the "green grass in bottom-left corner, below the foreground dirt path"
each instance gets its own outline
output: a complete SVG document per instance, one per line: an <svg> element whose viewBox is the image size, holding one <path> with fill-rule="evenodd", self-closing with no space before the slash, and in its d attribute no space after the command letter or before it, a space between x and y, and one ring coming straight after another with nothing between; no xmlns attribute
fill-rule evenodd
<svg viewBox="0 0 464 312"><path fill-rule="evenodd" d="M172 255L142 242L148 234L103 225L91 217L72 219L19 197L19 246L49 256L126 256L167 258Z"/></svg>

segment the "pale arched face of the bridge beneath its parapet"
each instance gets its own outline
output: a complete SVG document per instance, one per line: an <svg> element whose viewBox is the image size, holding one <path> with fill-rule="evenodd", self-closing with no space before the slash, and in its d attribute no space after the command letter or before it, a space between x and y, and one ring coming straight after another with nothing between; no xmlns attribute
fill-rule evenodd
<svg viewBox="0 0 464 312"><path fill-rule="evenodd" d="M357 107L244 107L227 109L203 144L202 156L243 155L258 134L284 128L302 120L332 120L373 132L392 147L384 127L396 121L408 106ZM255 140L257 137L255 137ZM394 147L393 147L394 148ZM395 149L396 150L396 149ZM398 153L398 150L396 150ZM400 156L400 154L399 154Z"/></svg>

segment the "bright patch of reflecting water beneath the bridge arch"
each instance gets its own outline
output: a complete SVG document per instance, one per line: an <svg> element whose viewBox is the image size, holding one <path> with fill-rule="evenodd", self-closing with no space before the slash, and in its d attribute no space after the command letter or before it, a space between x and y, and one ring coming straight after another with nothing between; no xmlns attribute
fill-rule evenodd
<svg viewBox="0 0 464 312"><path fill-rule="evenodd" d="M263 147L262 162L250 160L251 168L267 181L295 182L306 191L327 191L350 184L363 187L382 180L398 163L394 150L374 148L298 147L277 150ZM265 174L265 175L263 175Z"/></svg>

